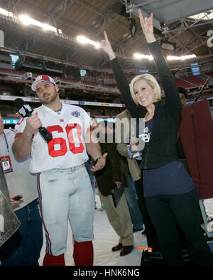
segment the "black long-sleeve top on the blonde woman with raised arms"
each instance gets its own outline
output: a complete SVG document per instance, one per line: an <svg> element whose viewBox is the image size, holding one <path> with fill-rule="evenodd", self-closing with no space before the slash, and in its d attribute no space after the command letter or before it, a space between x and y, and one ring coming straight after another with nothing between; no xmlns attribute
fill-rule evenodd
<svg viewBox="0 0 213 280"><path fill-rule="evenodd" d="M163 57L158 41L148 43L148 48L153 55L155 66L158 70L161 85L165 92L165 103L154 102L155 113L153 116L153 129L151 139L145 144L142 154L142 169L153 169L164 166L166 163L178 160L176 144L180 124L182 104L175 85L175 79L170 72L168 64ZM116 78L116 83L121 92L124 104L133 118L143 118L146 108L137 105L131 98L129 82L121 68L119 60L111 60L111 68Z"/></svg>

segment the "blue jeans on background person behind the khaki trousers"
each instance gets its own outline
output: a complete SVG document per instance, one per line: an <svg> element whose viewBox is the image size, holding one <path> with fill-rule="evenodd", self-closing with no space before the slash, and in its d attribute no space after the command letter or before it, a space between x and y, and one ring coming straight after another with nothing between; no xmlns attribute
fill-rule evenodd
<svg viewBox="0 0 213 280"><path fill-rule="evenodd" d="M134 188L134 182L130 174L126 174L128 181L128 188L125 188L126 201L129 207L129 214L133 228L136 230L143 228L143 216L141 210L138 207L138 200L136 198L136 190Z"/></svg>

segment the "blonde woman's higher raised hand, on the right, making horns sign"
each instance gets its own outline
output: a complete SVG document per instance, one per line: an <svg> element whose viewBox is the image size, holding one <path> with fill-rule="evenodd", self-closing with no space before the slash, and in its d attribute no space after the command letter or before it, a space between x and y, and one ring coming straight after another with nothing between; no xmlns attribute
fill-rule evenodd
<svg viewBox="0 0 213 280"><path fill-rule="evenodd" d="M141 23L141 28L143 30L143 34L146 38L147 43L156 41L153 28L153 13L151 13L151 16L149 18L143 18L141 9L138 9L138 15Z"/></svg>

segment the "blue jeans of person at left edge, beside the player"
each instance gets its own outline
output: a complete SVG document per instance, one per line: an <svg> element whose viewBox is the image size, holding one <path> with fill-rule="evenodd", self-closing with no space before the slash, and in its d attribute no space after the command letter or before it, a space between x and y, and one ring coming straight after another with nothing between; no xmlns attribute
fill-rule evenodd
<svg viewBox="0 0 213 280"><path fill-rule="evenodd" d="M38 266L43 230L38 201L16 210L18 230L0 247L1 266Z"/></svg>

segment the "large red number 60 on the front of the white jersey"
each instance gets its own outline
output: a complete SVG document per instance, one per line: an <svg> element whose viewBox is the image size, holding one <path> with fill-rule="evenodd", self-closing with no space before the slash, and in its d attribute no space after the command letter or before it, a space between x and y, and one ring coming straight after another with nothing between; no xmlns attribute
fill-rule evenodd
<svg viewBox="0 0 213 280"><path fill-rule="evenodd" d="M48 131L53 135L53 131L57 131L58 133L64 132L60 125L48 126ZM67 124L65 127L67 133L67 139L69 142L69 149L72 151L73 154L79 154L84 151L84 145L82 144L81 134L82 128L80 124ZM72 129L77 129L77 139L80 143L79 147L75 146L75 139L73 135ZM60 146L60 149L55 149L55 145ZM49 155L53 158L57 156L64 156L67 153L67 142L62 137L53 138L48 142L48 150Z"/></svg>

